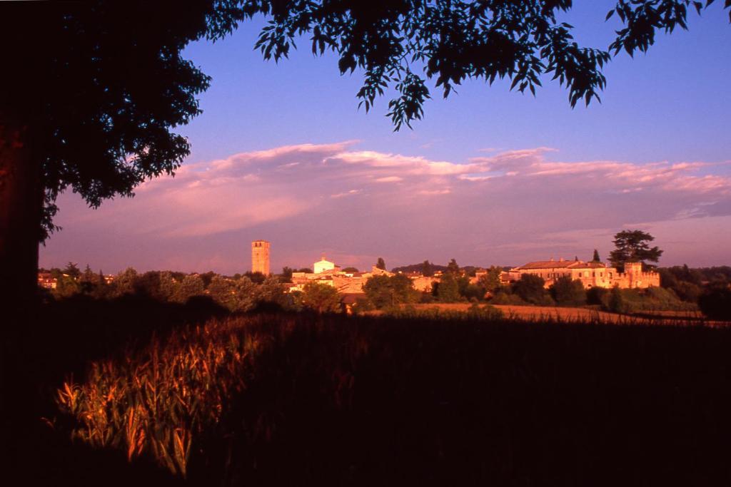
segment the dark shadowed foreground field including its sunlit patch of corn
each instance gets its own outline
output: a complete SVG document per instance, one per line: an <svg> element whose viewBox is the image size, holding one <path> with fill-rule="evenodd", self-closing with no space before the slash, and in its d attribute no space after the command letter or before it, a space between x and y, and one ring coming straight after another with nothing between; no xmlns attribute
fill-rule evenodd
<svg viewBox="0 0 731 487"><path fill-rule="evenodd" d="M28 485L729 485L730 329L456 318L50 302L4 354L5 458Z"/></svg>

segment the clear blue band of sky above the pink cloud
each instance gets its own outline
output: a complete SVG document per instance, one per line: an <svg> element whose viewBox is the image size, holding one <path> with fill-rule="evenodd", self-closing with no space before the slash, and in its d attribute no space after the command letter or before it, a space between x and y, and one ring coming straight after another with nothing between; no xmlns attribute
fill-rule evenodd
<svg viewBox="0 0 731 487"><path fill-rule="evenodd" d="M605 48L620 24L604 22L613 1L577 1L566 20L578 42ZM222 42L199 42L186 54L213 77L201 97L204 114L183 129L194 144L193 160L219 158L242 147L262 150L298 142L362 139L373 150L463 161L485 147L557 147L566 160L718 161L727 158L731 77L731 26L721 5L690 30L660 34L647 55L621 54L605 69L602 104L568 104L567 92L545 83L536 98L464 83L442 99L432 90L426 118L394 134L380 99L366 114L357 110L359 72L341 76L336 58L315 58L306 39L288 60L264 61L251 47L262 21L243 24ZM215 134L215 137L211 137ZM424 147L428 145L428 147Z"/></svg>

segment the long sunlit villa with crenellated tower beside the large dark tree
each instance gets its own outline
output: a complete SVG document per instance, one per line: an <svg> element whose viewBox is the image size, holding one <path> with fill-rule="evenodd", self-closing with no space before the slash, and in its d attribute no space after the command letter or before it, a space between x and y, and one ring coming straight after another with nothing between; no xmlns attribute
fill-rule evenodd
<svg viewBox="0 0 731 487"><path fill-rule="evenodd" d="M641 262L627 262L624 272L618 272L616 267L607 266L603 262L585 262L578 259L558 261L551 258L548 261L529 262L503 272L501 280L504 283L519 280L523 275L537 275L545 280L545 286L552 285L560 277L570 277L578 280L584 288L649 288L660 285L660 275L653 271L643 271Z"/></svg>

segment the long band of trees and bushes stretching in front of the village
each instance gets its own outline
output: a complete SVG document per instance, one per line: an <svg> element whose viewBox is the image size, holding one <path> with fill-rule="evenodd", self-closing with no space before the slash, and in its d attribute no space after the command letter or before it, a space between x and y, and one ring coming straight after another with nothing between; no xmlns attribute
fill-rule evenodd
<svg viewBox="0 0 731 487"><path fill-rule="evenodd" d="M423 269L429 269L425 261ZM596 309L642 313L654 311L699 310L708 318L731 320L731 267L689 269L688 266L660 268L661 287L647 289L590 288L584 289L578 280L561 277L545 288L545 280L536 275L503 284L503 268L491 266L474 281L474 267L460 267L454 259L443 267L439 282L431 290L417 291L411 279L396 274L377 275L363 287L364 296L349 303L354 312L393 310L402 304L486 302L488 304L532 304L539 306L591 306ZM184 304L190 299L210 299L231 312L254 309L309 309L316 312L339 312L343 297L330 285L308 283L303 291L286 292L283 283L291 277L284 269L282 275L264 276L248 272L225 276L214 272L185 274L172 271L138 273L129 268L107 283L102 272L95 273L86 266L82 272L75 264L65 269L50 269L56 277L56 289L50 295L63 298L84 294L96 299L114 299L125 295L148 296L160 302ZM472 277L471 277L472 276Z"/></svg>

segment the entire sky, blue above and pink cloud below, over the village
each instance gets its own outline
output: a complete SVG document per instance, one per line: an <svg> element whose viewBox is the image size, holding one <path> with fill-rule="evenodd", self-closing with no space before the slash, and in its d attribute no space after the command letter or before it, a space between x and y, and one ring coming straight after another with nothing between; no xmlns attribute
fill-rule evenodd
<svg viewBox="0 0 731 487"><path fill-rule="evenodd" d="M614 1L564 16L581 45L606 48ZM192 153L175 177L92 210L71 191L40 265L116 273L271 269L325 254L342 266L425 259L519 265L606 258L623 229L664 249L661 265L731 264L731 26L716 2L689 31L604 69L602 103L571 109L545 78L536 96L466 81L446 100L430 86L425 118L394 132L388 93L358 110L362 73L341 76L306 39L275 64L254 51L261 19L184 55L213 80L202 115L178 133Z"/></svg>

